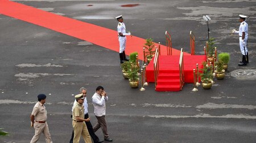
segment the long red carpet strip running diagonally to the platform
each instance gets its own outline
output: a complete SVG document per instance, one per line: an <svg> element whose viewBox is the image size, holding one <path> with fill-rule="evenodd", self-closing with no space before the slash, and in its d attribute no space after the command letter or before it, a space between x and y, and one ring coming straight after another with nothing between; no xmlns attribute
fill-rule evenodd
<svg viewBox="0 0 256 143"><path fill-rule="evenodd" d="M51 12L7 0L0 0L0 14L49 28L53 31L64 33L119 52L117 31L112 29L99 27L94 24L52 14ZM145 40L143 38L127 36L126 54L138 51L139 59L143 59L144 43ZM166 46L162 45L161 49L161 54L166 55ZM172 53L173 55L179 55L180 51L172 49ZM184 53L184 55L185 54L187 53Z"/></svg>

